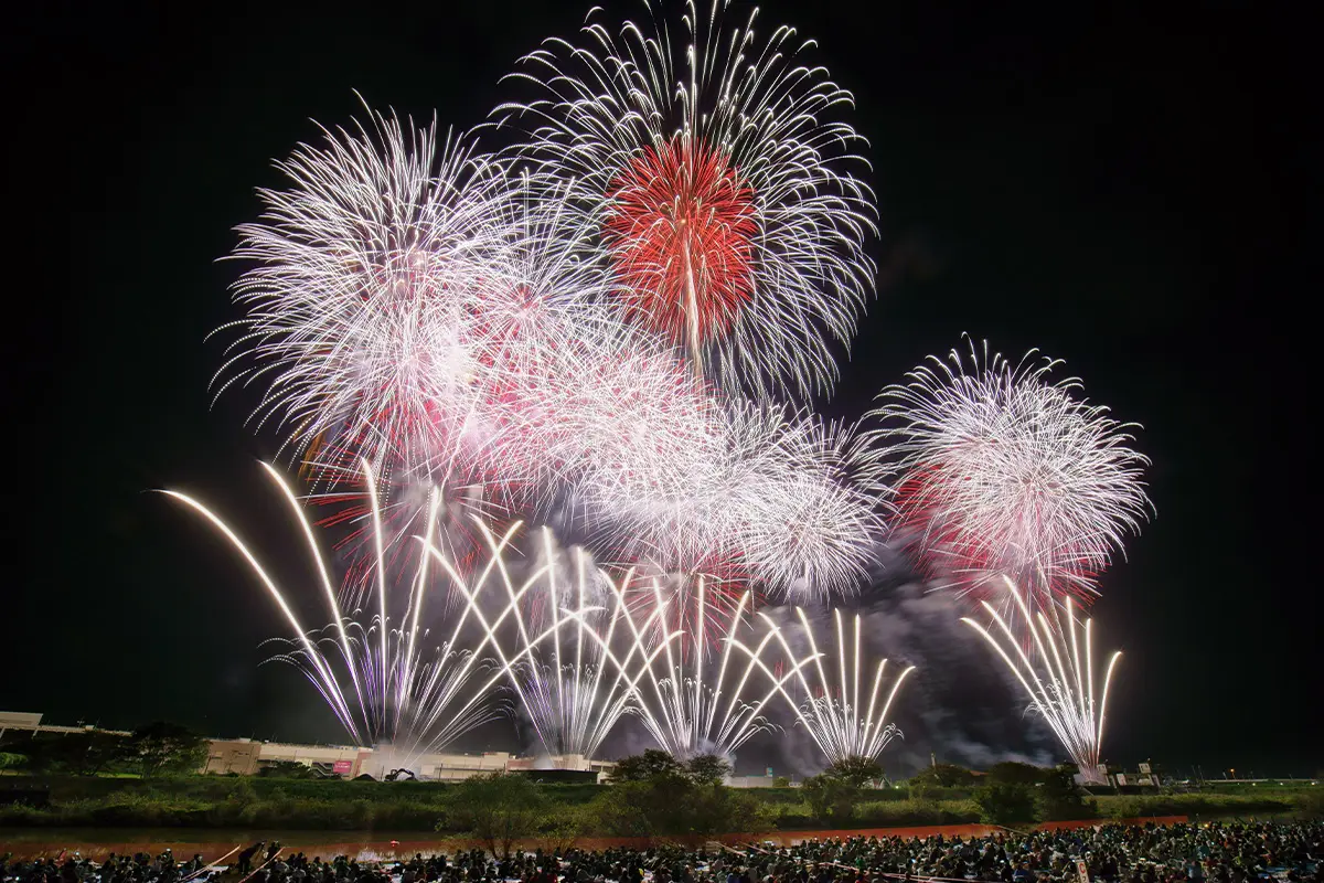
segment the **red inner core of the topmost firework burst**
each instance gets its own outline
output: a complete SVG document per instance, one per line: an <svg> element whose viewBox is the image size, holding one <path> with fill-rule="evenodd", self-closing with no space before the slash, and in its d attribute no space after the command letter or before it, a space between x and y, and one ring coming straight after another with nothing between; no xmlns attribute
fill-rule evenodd
<svg viewBox="0 0 1324 883"><path fill-rule="evenodd" d="M753 191L688 138L649 147L612 181L604 224L630 312L698 349L753 295Z"/></svg>

